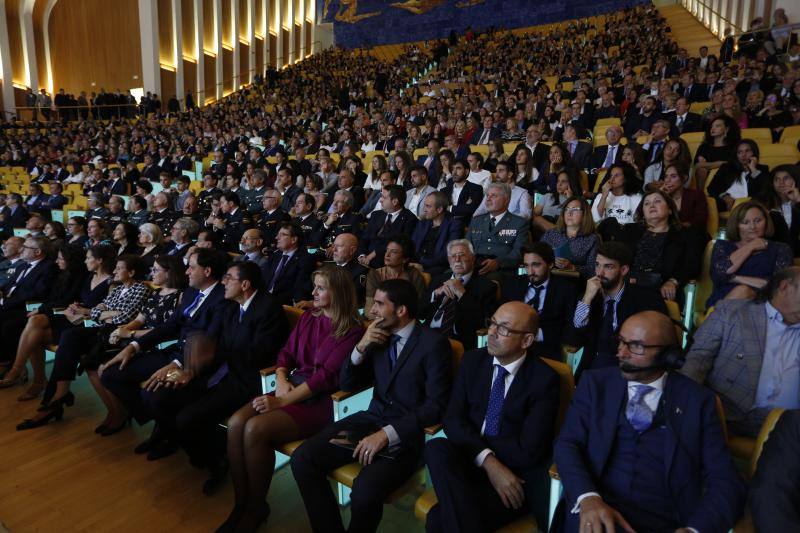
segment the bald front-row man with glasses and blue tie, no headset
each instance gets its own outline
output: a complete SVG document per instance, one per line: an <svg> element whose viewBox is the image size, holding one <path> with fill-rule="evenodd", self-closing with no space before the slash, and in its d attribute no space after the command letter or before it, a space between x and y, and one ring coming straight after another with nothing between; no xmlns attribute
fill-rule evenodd
<svg viewBox="0 0 800 533"><path fill-rule="evenodd" d="M528 354L538 326L529 305L506 303L490 320L488 346L464 355L444 419L447 438L425 447L439 499L428 531L494 531L531 513L547 523L559 380Z"/></svg>

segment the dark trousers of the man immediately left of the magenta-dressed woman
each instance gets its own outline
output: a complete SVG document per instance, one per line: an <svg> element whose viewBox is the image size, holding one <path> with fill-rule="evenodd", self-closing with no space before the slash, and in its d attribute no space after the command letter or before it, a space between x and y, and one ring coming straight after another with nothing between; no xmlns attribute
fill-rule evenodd
<svg viewBox="0 0 800 533"><path fill-rule="evenodd" d="M198 377L178 390L144 392L146 410L163 435L186 450L192 462L214 466L225 454L226 433L219 423L235 413L257 393L225 376L212 388L207 378Z"/></svg>

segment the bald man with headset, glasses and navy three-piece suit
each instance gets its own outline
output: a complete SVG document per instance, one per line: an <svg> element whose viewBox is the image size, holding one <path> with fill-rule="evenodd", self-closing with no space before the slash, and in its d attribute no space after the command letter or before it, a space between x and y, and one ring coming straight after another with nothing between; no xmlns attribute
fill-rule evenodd
<svg viewBox="0 0 800 533"><path fill-rule="evenodd" d="M618 367L584 372L556 441L565 531L728 531L745 487L714 394L674 371L666 315L634 314L617 338Z"/></svg>

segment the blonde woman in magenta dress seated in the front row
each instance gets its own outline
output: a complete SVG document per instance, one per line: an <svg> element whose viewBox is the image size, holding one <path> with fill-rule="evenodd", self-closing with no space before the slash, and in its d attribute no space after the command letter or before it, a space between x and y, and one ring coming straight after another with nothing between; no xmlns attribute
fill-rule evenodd
<svg viewBox="0 0 800 533"><path fill-rule="evenodd" d="M317 433L333 420L339 370L363 334L350 274L326 266L313 274L314 306L278 354L274 394L256 397L228 421L228 458L236 504L218 531L255 531L269 516L275 447Z"/></svg>

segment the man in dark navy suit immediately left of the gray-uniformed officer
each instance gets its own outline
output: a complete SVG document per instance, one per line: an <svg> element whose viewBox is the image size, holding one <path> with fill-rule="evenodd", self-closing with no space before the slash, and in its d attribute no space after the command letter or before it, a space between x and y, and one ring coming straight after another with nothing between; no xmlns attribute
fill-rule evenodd
<svg viewBox="0 0 800 533"><path fill-rule="evenodd" d="M448 268L447 243L464 235L461 224L447 212L448 204L447 196L441 191L426 196L422 216L411 234L417 262L431 275L440 274Z"/></svg>

